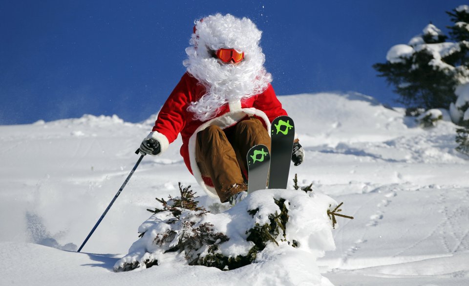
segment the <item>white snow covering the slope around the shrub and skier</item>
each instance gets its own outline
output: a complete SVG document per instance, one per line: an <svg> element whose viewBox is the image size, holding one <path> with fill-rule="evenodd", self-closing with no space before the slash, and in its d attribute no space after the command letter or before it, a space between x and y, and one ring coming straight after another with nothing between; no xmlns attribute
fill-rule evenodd
<svg viewBox="0 0 469 286"><path fill-rule="evenodd" d="M175 263L114 273L150 217L146 209L158 206L155 197L177 196L179 181L208 209L226 209L196 185L177 139L162 157L144 158L83 253L70 251L128 176L154 120L86 115L0 126L0 285L469 285L469 160L454 150L456 126L447 113L424 130L404 110L359 93L279 99L305 150L290 178L298 173L300 185L343 201L342 213L355 217L338 218L335 250L319 258L311 247L269 246L258 263L231 271L173 257ZM303 220L295 228L306 236L314 226Z"/></svg>

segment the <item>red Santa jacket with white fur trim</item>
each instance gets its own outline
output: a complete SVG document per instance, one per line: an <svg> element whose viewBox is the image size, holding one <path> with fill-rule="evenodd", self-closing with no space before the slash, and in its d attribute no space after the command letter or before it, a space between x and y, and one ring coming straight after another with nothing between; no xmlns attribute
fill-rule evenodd
<svg viewBox="0 0 469 286"><path fill-rule="evenodd" d="M153 127L153 138L161 144L163 153L177 135L181 133L182 147L181 155L187 168L195 176L203 189L209 195L217 198L211 180L202 178L195 162L195 138L197 132L204 130L210 125L218 125L222 129L235 125L246 116L256 116L265 122L266 130L270 130L270 123L280 115L287 115L282 109L281 103L275 95L271 85L262 92L240 102L222 106L216 116L208 121L202 122L193 118L193 113L187 111L191 102L196 102L205 94L205 88L197 79L189 73L185 73L177 86L171 92L169 98L158 113L155 126Z"/></svg>

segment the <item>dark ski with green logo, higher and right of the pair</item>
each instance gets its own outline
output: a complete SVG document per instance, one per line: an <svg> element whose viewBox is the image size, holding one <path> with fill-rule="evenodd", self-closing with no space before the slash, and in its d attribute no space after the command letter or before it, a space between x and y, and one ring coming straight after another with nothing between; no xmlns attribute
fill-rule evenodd
<svg viewBox="0 0 469 286"><path fill-rule="evenodd" d="M269 189L286 189L292 159L295 124L288 116L279 116L271 126Z"/></svg>

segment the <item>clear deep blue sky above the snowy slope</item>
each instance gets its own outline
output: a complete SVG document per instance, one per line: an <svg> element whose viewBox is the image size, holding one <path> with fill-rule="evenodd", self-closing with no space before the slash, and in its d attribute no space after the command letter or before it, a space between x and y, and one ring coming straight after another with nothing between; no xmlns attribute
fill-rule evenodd
<svg viewBox="0 0 469 286"><path fill-rule="evenodd" d="M454 0L0 2L0 124L159 110L185 71L193 21L252 19L277 95L357 91L395 105L371 67L430 21L446 32Z"/></svg>

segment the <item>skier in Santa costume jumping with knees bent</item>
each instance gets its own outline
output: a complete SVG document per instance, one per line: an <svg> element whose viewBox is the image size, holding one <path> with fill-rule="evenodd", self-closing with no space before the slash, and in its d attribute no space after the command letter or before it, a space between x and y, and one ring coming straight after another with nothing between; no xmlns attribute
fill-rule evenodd
<svg viewBox="0 0 469 286"><path fill-rule="evenodd" d="M216 14L196 21L183 62L187 72L139 149L162 154L181 133L189 171L210 196L232 205L247 196L247 152L257 144L270 149L270 123L287 115L263 66L260 37L247 18ZM298 166L304 152L295 138Z"/></svg>

